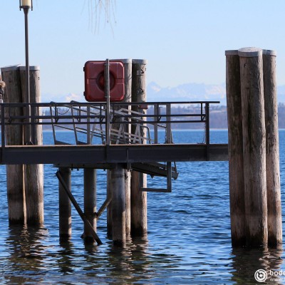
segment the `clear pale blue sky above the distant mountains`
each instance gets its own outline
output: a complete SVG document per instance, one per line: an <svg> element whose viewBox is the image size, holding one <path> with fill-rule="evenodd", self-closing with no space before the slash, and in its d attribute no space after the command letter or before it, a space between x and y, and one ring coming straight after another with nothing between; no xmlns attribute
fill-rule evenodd
<svg viewBox="0 0 285 285"><path fill-rule="evenodd" d="M113 0L97 31L90 2L33 0L30 63L41 67L45 97L82 94L84 63L105 58L147 59L147 83L162 87L223 83L224 51L245 46L275 50L285 84L284 0ZM24 12L18 0L0 9L0 67L24 65Z"/></svg>

